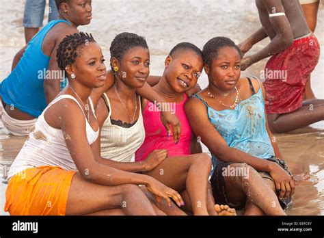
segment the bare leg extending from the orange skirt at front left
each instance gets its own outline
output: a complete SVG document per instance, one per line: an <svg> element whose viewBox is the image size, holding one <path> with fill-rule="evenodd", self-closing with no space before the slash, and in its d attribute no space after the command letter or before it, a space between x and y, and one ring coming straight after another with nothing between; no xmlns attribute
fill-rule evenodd
<svg viewBox="0 0 324 238"><path fill-rule="evenodd" d="M85 215L116 208L121 208L125 215L157 214L137 185L103 186L85 181L79 173L73 176L66 215Z"/></svg>

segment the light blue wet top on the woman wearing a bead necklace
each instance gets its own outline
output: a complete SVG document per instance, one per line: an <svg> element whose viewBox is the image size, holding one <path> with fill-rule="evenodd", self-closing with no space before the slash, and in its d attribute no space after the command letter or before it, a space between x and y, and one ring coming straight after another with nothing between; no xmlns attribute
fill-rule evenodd
<svg viewBox="0 0 324 238"><path fill-rule="evenodd" d="M258 83L260 85L259 81ZM241 101L235 109L221 111L209 107L198 94L193 96L206 105L209 121L229 147L237 148L260 159L269 159L275 155L266 130L265 101L261 87L256 94ZM219 161L213 153L211 155L213 161L211 174L213 174L217 164L222 161Z"/></svg>

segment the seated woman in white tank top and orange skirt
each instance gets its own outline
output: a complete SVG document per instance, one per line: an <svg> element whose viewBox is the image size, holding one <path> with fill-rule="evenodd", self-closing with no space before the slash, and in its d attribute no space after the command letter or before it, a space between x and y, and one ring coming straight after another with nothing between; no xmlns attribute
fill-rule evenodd
<svg viewBox="0 0 324 238"><path fill-rule="evenodd" d="M74 1L69 1L75 4ZM8 172L10 215L157 215L139 185L169 206L178 192L156 179L99 163L100 140L90 93L106 80L103 53L90 34L66 36L56 52L68 86L39 116ZM100 143L100 142L99 142Z"/></svg>

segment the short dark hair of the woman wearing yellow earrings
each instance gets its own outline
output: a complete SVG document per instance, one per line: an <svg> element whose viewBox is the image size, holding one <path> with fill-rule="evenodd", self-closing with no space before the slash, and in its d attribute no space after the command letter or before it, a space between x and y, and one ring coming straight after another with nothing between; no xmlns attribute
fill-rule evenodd
<svg viewBox="0 0 324 238"><path fill-rule="evenodd" d="M123 32L118 34L110 46L110 62L113 57L122 60L122 57L126 55L126 53L135 47L143 47L144 49L148 49L148 44L143 36L138 36L137 34ZM113 68L113 66L111 66Z"/></svg>

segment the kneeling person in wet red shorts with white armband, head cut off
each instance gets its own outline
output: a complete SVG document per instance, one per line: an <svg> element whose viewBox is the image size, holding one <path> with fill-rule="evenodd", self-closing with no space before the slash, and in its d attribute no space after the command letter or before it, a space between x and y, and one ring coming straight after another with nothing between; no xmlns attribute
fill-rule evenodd
<svg viewBox="0 0 324 238"><path fill-rule="evenodd" d="M298 0L256 0L262 27L242 42L246 53L269 37L271 42L245 56L241 70L272 55L265 75L265 106L273 133L285 133L324 120L324 100L303 101L310 73L319 62L319 42L310 31Z"/></svg>

